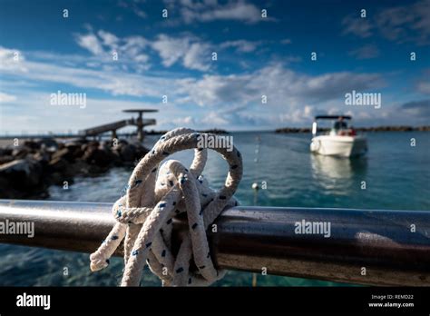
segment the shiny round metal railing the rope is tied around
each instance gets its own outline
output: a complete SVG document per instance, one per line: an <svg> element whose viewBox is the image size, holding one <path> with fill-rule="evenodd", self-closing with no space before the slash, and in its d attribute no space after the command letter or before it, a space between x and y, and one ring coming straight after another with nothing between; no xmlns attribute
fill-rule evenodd
<svg viewBox="0 0 430 316"><path fill-rule="evenodd" d="M0 200L0 222L34 222L34 237L0 242L93 252L110 232L110 203ZM297 233L330 223L329 237ZM430 285L430 212L234 207L208 232L220 268L371 285ZM184 222L174 222L181 232ZM178 234L180 235L180 234ZM116 253L120 255L121 253Z"/></svg>

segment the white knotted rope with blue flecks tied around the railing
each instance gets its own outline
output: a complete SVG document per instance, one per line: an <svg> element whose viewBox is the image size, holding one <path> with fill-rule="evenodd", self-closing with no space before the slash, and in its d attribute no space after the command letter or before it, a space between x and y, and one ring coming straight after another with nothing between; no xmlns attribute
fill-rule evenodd
<svg viewBox="0 0 430 316"><path fill-rule="evenodd" d="M220 280L225 272L217 270L210 258L206 230L225 208L237 205L233 197L242 175L242 160L233 147L211 148L229 163L229 173L219 192L210 189L200 174L207 161L201 137L218 137L178 128L164 134L134 168L127 193L114 203L118 221L96 252L90 256L91 270L109 264L109 258L124 240L122 286L138 286L145 262L163 286L202 286ZM217 142L215 142L217 143ZM190 170L180 162L168 160L172 153L195 149ZM177 254L171 249L172 221L186 212L189 232L181 239ZM197 267L191 271L191 260Z"/></svg>

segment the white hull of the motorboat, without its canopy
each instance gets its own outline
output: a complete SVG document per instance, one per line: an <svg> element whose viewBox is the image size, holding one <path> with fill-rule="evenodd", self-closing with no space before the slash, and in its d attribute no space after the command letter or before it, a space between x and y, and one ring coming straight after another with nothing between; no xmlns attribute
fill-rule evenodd
<svg viewBox="0 0 430 316"><path fill-rule="evenodd" d="M351 157L366 153L367 142L363 136L320 135L312 138L310 151L327 156Z"/></svg>

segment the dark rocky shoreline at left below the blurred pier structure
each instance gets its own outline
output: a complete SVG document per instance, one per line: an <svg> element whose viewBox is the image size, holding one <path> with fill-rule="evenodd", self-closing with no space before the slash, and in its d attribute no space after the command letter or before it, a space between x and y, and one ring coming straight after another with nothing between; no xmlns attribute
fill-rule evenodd
<svg viewBox="0 0 430 316"><path fill-rule="evenodd" d="M0 199L46 198L50 185L70 185L76 175L94 176L113 166L132 166L148 149L141 143L76 139L24 141L0 148Z"/></svg>

